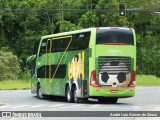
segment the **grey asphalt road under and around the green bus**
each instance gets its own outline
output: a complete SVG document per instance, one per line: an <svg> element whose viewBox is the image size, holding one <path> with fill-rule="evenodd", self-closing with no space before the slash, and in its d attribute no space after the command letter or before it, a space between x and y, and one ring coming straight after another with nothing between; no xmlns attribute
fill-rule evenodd
<svg viewBox="0 0 160 120"><path fill-rule="evenodd" d="M117 104L99 104L93 99L67 103L64 97L40 100L30 90L0 91L0 101L4 103L0 111L160 111L160 87L137 87L134 97L119 99Z"/></svg>

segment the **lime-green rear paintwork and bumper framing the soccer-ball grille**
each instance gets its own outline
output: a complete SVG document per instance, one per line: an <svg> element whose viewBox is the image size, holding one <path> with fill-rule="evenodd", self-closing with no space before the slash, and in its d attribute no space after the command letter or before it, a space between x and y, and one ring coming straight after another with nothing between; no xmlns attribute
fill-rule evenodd
<svg viewBox="0 0 160 120"><path fill-rule="evenodd" d="M98 70L98 57L100 56L108 56L108 57L130 57L131 59L135 58L135 47L134 46L112 46L112 45L96 45L93 46L95 48L95 66L97 67L90 67L90 73L92 70L96 69L97 71L97 81L99 82L99 70ZM135 61L132 63L132 71L136 71L135 69ZM90 64L91 65L91 64ZM117 79L117 76L114 78ZM131 75L130 75L131 79ZM113 81L113 78L112 78ZM113 91L113 92L112 92ZM114 92L115 91L115 92ZM89 86L89 96L90 97L132 97L135 94L135 88L130 87L117 87L113 85L112 87L107 87L105 85L100 87Z"/></svg>

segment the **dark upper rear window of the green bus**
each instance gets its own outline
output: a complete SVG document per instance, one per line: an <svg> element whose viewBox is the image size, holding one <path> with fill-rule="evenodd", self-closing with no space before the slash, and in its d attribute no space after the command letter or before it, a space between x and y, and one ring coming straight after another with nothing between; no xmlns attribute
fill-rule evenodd
<svg viewBox="0 0 160 120"><path fill-rule="evenodd" d="M134 45L133 32L126 29L99 29L96 33L96 44Z"/></svg>

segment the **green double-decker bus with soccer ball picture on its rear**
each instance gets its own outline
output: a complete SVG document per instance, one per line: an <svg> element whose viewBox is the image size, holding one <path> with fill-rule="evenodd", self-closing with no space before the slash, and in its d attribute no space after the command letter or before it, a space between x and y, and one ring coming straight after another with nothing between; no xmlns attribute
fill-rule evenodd
<svg viewBox="0 0 160 120"><path fill-rule="evenodd" d="M27 60L31 92L116 103L133 97L136 37L132 28L99 27L43 36Z"/></svg>

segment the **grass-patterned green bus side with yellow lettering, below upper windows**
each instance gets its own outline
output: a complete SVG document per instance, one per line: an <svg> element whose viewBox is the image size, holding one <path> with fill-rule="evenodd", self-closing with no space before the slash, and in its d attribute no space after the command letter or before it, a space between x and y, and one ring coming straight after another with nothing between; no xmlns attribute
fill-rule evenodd
<svg viewBox="0 0 160 120"><path fill-rule="evenodd" d="M62 56L63 59L61 60ZM69 83L69 85L74 83L78 88L79 97L88 97L88 58L89 49L68 51L65 53L45 53L40 55L37 59L36 68L37 74L40 74L40 78L38 76L37 77L41 84L42 94L65 96L65 85L67 83ZM65 70L59 74L59 76L64 76L63 78L54 77L54 73L52 72L54 65L65 65ZM65 75L62 75L64 73ZM45 74L47 74L47 77ZM78 76L82 78L79 78ZM35 81L32 82L32 84L34 83ZM35 84L33 88L36 89Z"/></svg>

